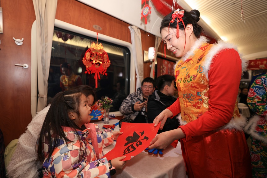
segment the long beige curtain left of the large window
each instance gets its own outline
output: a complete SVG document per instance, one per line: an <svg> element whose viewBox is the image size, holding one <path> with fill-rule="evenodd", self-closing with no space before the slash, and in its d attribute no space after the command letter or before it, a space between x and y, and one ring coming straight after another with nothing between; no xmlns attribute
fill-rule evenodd
<svg viewBox="0 0 267 178"><path fill-rule="evenodd" d="M39 112L47 103L47 80L57 0L33 0L33 4L36 17L37 80L39 93L37 112Z"/></svg>

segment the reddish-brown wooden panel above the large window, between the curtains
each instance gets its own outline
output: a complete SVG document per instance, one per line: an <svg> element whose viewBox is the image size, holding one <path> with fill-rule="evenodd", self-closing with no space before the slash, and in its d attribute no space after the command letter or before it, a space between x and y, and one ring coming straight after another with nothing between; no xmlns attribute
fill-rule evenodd
<svg viewBox="0 0 267 178"><path fill-rule="evenodd" d="M56 19L76 26L98 32L126 42L130 31L129 24L101 11L73 0L58 0ZM99 25L102 30L96 30L93 25Z"/></svg>

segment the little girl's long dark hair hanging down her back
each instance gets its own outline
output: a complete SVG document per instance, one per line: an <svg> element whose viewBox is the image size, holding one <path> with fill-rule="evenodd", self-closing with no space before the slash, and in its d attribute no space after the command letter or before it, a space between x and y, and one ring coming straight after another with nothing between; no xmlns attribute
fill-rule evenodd
<svg viewBox="0 0 267 178"><path fill-rule="evenodd" d="M72 127L76 132L80 130L79 126L69 118L68 113L74 112L80 118L81 95L79 90L68 90L57 93L53 98L39 134L37 154L40 161L45 158L43 142L48 144L48 158L51 157L53 150L59 146L60 140L65 140L66 144L71 142L61 126Z"/></svg>

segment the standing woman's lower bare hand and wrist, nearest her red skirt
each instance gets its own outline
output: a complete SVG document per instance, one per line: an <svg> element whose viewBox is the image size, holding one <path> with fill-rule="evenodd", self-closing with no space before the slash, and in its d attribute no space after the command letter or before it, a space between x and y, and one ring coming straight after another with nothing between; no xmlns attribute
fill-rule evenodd
<svg viewBox="0 0 267 178"><path fill-rule="evenodd" d="M185 135L182 129L180 128L162 132L152 139L152 141L150 142L151 145L148 147L148 149L153 149L153 148L165 149L174 140L178 140L183 137L185 137Z"/></svg>

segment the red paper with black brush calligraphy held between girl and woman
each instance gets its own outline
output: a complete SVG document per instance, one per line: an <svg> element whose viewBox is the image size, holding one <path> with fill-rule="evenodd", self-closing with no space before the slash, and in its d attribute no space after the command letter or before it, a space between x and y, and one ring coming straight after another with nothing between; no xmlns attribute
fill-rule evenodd
<svg viewBox="0 0 267 178"><path fill-rule="evenodd" d="M105 154L103 158L106 157L107 160L111 160L126 156L123 161L130 160L150 145L149 143L155 138L159 128L160 123L154 127L153 123L122 122L120 131L123 134L118 136L114 149Z"/></svg>

